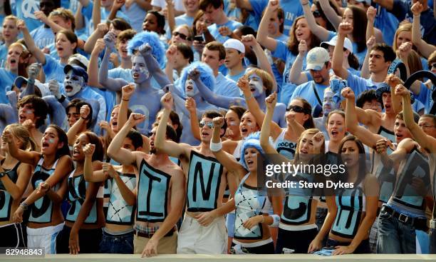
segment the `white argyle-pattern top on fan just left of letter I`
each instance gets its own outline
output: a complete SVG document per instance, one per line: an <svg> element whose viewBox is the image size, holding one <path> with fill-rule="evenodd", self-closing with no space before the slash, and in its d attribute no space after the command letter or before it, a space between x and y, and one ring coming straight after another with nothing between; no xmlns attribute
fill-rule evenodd
<svg viewBox="0 0 436 262"><path fill-rule="evenodd" d="M136 176L134 173L120 173L118 172L123 183L131 191L136 187ZM112 184L110 188L110 198L109 198L109 208L108 214L106 215L106 223L115 223L118 225L132 225L135 218L135 213L133 208L135 206L129 206L125 202L123 196L121 195L118 184L113 181L113 178L108 179Z"/></svg>

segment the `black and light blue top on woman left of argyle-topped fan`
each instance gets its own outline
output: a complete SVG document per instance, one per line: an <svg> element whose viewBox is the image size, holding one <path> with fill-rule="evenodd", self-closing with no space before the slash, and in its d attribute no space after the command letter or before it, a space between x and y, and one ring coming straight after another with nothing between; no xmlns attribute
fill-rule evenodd
<svg viewBox="0 0 436 262"><path fill-rule="evenodd" d="M76 170L74 170L76 171ZM67 200L71 203L70 209L68 210L66 221L76 222L81 207L86 197L86 188L89 186L89 182L85 181L83 174L79 176L73 176L74 171L68 176L68 194ZM102 188L100 188L102 189ZM100 193L100 190L99 190ZM103 198L97 194L96 198ZM93 203L92 208L89 211L88 217L83 223L85 224L95 224L97 223L97 199Z"/></svg>

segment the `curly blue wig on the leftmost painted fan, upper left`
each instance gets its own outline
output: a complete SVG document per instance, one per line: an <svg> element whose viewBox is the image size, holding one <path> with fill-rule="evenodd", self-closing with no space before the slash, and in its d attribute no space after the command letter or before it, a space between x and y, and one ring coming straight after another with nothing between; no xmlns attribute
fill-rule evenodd
<svg viewBox="0 0 436 262"><path fill-rule="evenodd" d="M129 55L133 55L135 50L139 49L143 44L150 44L152 47L152 55L155 57L157 63L162 65L165 61L165 48L159 40L159 35L150 31L142 31L139 34L135 34L133 39L130 39L128 43Z"/></svg>

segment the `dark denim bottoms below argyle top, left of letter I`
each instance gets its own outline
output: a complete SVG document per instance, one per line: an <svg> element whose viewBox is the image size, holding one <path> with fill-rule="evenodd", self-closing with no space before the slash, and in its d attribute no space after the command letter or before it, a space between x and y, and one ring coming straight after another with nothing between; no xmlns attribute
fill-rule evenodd
<svg viewBox="0 0 436 262"><path fill-rule="evenodd" d="M133 254L133 231L123 235L111 235L103 231L100 253Z"/></svg>

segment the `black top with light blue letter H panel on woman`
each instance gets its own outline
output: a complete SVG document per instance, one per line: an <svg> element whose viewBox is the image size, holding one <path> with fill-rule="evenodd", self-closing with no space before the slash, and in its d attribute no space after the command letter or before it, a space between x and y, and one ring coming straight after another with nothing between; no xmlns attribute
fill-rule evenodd
<svg viewBox="0 0 436 262"><path fill-rule="evenodd" d="M338 191L336 195L338 213L331 227L331 233L334 235L354 238L357 233L366 205L362 183L355 188L341 188Z"/></svg>

